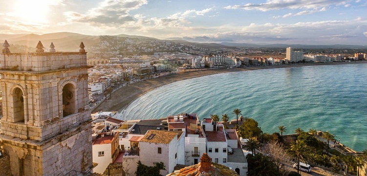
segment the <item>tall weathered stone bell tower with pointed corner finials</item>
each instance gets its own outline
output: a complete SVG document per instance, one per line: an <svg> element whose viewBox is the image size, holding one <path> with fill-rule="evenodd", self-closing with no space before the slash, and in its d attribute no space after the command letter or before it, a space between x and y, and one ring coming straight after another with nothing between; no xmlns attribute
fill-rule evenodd
<svg viewBox="0 0 367 176"><path fill-rule="evenodd" d="M73 176L92 168L86 51L0 55L0 139L14 176ZM83 47L83 48L82 48ZM54 45L51 44L51 48Z"/></svg>

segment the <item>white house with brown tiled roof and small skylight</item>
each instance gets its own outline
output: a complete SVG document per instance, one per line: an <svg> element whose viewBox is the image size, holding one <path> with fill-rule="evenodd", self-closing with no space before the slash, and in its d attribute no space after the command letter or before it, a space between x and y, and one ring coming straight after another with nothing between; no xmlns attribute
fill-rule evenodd
<svg viewBox="0 0 367 176"><path fill-rule="evenodd" d="M185 164L184 142L183 132L150 130L139 141L140 161L147 166L163 162L166 170L160 170L160 174L172 173L177 164Z"/></svg>

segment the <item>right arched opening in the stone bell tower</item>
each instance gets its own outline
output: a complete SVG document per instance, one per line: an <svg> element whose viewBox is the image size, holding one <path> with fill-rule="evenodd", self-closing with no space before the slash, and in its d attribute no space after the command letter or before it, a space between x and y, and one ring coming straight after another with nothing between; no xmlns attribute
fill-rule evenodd
<svg viewBox="0 0 367 176"><path fill-rule="evenodd" d="M72 84L66 84L63 88L63 116L76 113L75 88Z"/></svg>

